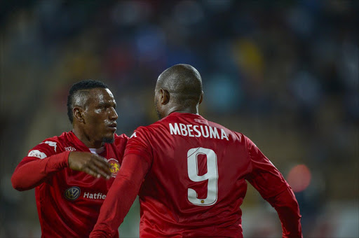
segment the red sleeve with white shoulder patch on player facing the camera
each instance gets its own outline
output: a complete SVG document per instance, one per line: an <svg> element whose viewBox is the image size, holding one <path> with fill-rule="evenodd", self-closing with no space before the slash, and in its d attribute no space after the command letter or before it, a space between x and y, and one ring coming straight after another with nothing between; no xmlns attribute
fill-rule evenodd
<svg viewBox="0 0 359 238"><path fill-rule="evenodd" d="M11 176L13 188L19 191L35 188L53 173L68 167L70 152L56 153L55 150L56 147L53 144L49 146L42 143L29 151L27 157L22 159Z"/></svg>

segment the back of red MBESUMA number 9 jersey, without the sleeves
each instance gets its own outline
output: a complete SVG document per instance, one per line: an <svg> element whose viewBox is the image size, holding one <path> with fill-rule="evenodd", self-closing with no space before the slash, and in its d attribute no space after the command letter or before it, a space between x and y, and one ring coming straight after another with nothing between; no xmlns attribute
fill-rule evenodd
<svg viewBox="0 0 359 238"><path fill-rule="evenodd" d="M251 170L242 134L203 117L171 113L139 127L133 142L151 162L140 190L141 237L242 237Z"/></svg>

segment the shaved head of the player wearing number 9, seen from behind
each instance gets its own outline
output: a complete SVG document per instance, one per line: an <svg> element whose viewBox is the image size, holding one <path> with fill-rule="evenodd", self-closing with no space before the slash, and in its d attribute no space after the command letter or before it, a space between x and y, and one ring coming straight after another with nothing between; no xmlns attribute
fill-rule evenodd
<svg viewBox="0 0 359 238"><path fill-rule="evenodd" d="M176 64L158 76L155 105L159 118L174 111L197 113L202 97L201 75L189 64Z"/></svg>

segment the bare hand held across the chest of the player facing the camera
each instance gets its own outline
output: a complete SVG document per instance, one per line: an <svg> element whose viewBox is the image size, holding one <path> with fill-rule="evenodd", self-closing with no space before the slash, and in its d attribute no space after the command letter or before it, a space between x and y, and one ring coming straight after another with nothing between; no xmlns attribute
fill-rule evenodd
<svg viewBox="0 0 359 238"><path fill-rule="evenodd" d="M85 172L97 178L111 177L111 166L105 158L89 152L72 151L69 153L69 167L77 171Z"/></svg>

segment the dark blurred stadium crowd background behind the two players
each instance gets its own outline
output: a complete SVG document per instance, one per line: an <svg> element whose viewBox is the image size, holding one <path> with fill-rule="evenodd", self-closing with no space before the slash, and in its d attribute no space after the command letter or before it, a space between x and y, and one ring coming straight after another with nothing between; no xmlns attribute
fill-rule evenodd
<svg viewBox="0 0 359 238"><path fill-rule="evenodd" d="M107 83L117 133L154 123L159 73L191 64L200 113L252 139L292 186L304 237L359 237L358 1L1 1L0 237L40 237L34 190L11 175L72 126L67 93ZM251 186L245 237L280 237ZM138 237L139 206L121 225Z"/></svg>

